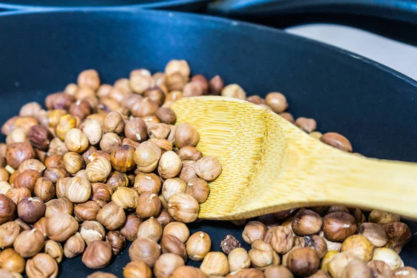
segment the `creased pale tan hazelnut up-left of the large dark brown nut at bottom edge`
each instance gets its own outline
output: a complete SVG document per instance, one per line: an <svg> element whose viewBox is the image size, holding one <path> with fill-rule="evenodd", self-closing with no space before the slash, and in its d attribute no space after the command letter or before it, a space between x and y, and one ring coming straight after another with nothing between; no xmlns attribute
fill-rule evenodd
<svg viewBox="0 0 417 278"><path fill-rule="evenodd" d="M279 265L280 259L269 243L261 239L252 242L252 249L248 252L252 265L265 270L269 265Z"/></svg>

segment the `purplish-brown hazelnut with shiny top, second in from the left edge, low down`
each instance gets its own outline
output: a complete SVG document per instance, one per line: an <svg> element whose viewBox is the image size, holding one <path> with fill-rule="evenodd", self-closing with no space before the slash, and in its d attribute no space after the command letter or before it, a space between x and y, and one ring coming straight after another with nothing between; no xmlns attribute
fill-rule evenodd
<svg viewBox="0 0 417 278"><path fill-rule="evenodd" d="M35 223L45 213L45 204L38 197L28 197L22 199L17 204L17 215L27 223Z"/></svg>

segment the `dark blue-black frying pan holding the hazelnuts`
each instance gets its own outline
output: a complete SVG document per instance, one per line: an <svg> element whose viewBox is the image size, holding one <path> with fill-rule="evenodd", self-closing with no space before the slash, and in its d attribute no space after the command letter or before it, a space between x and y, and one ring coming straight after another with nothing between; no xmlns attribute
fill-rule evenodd
<svg viewBox="0 0 417 278"><path fill-rule="evenodd" d="M417 82L320 42L229 19L151 10L7 12L0 26L0 122L28 101L43 103L81 70L95 68L104 83L113 83L133 69L161 71L181 58L193 74L220 74L249 95L283 92L295 117L313 117L320 131L347 136L355 152L417 161ZM416 234L417 224L409 225ZM243 228L229 222L193 223L190 230L210 234L212 250L220 250L227 234L249 247ZM127 250L104 271L122 277ZM413 236L401 254L405 265L417 267L415 250ZM61 265L62 277L94 272L80 257Z"/></svg>

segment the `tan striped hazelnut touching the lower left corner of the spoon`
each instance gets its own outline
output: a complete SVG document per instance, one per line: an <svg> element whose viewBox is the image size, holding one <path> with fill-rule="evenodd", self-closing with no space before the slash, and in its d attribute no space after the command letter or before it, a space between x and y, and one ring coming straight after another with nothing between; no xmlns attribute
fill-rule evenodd
<svg viewBox="0 0 417 278"><path fill-rule="evenodd" d="M193 196L186 193L177 193L170 197L167 204L168 212L172 217L184 223L197 220L199 204Z"/></svg>

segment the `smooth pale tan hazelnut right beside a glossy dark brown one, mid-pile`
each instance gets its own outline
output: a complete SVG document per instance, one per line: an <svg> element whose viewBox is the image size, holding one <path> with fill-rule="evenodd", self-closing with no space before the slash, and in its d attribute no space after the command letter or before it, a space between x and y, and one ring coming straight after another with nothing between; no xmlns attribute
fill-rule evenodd
<svg viewBox="0 0 417 278"><path fill-rule="evenodd" d="M138 170L152 172L161 158L161 149L152 142L142 142L133 156Z"/></svg>

